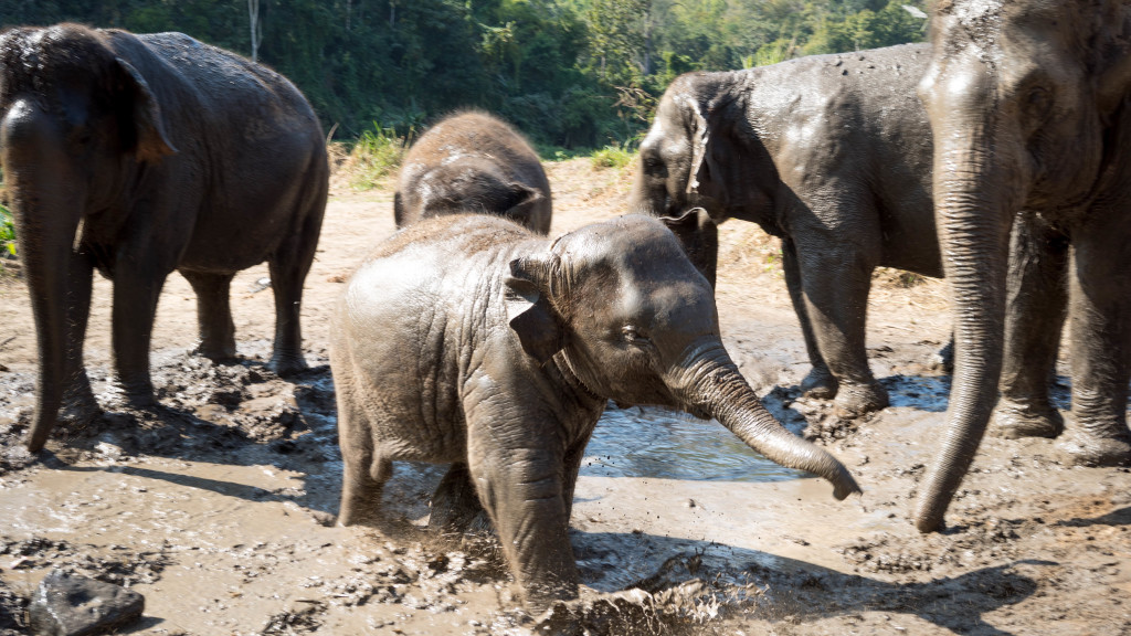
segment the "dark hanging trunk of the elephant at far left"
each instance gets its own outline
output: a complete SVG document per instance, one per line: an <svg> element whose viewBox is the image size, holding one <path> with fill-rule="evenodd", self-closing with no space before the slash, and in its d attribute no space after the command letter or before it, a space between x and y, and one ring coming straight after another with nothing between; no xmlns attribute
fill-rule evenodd
<svg viewBox="0 0 1131 636"><path fill-rule="evenodd" d="M15 213L19 257L35 319L40 369L35 416L27 448L37 452L54 428L68 378L68 311L76 269L76 231L85 191L63 153L63 140L50 115L28 102L16 102L0 122L0 147L9 203ZM44 179L52 183L44 183ZM86 283L89 285L89 281ZM89 298L89 294L85 294Z"/></svg>

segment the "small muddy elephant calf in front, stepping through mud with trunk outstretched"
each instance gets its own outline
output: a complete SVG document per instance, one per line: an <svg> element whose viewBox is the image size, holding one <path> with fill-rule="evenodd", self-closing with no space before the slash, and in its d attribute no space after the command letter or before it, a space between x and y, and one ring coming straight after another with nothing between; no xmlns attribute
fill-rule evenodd
<svg viewBox="0 0 1131 636"><path fill-rule="evenodd" d="M648 216L553 242L483 215L398 232L338 300L330 361L338 523L379 523L392 461L450 463L433 509L465 510L459 530L482 505L534 611L577 596L573 487L608 399L716 418L838 499L861 491L766 411L723 347L707 280Z"/></svg>

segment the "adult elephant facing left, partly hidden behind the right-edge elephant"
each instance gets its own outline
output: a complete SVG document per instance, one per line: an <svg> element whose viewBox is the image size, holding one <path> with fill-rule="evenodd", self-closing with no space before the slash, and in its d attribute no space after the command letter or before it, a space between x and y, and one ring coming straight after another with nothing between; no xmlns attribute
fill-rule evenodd
<svg viewBox="0 0 1131 636"><path fill-rule="evenodd" d="M679 77L640 144L631 209L679 216L714 283L714 223L782 238L786 285L812 370L802 389L848 414L888 405L864 346L872 270L941 276L931 132L915 93L930 46L819 55Z"/></svg>

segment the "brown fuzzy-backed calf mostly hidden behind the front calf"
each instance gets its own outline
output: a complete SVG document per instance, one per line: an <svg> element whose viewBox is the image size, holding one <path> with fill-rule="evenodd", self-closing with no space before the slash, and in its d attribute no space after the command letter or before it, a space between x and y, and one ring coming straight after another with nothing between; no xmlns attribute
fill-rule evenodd
<svg viewBox="0 0 1131 636"><path fill-rule="evenodd" d="M526 139L480 112L437 123L408 151L392 201L398 227L465 210L504 216L545 234L550 181Z"/></svg>

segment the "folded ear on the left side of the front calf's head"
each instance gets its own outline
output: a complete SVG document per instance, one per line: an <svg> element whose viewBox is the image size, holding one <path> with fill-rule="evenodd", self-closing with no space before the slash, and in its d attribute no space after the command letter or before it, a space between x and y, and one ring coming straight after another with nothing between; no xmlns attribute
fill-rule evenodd
<svg viewBox="0 0 1131 636"><path fill-rule="evenodd" d="M550 301L551 276L558 256L549 259L523 257L510 261L507 286L507 318L518 334L523 351L544 364L566 346L566 328Z"/></svg>

